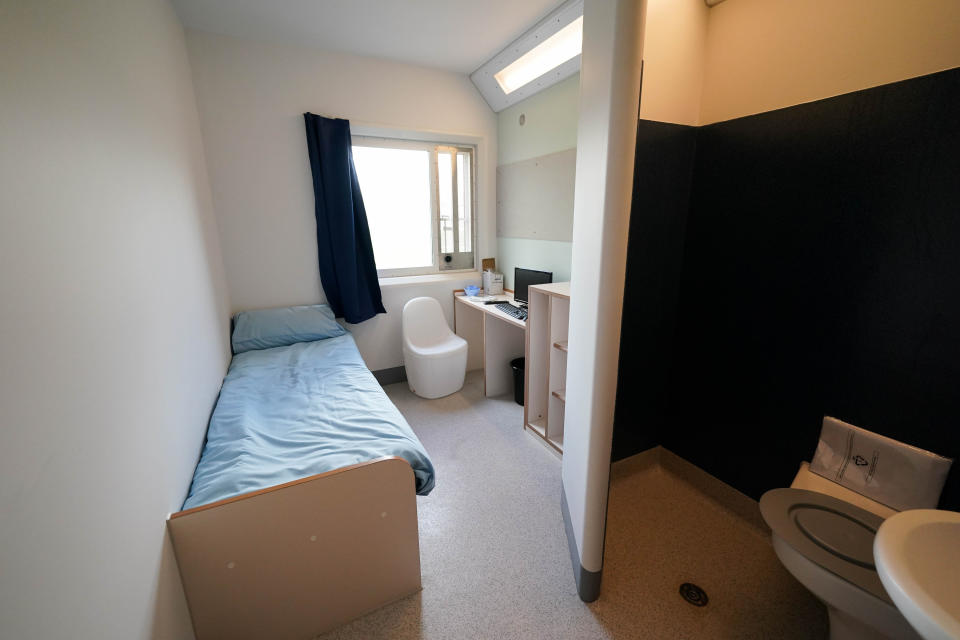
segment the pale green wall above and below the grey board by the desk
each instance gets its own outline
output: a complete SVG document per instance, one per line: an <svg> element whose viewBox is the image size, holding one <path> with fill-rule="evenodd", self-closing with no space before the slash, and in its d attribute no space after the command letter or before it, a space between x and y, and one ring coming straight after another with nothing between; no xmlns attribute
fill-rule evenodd
<svg viewBox="0 0 960 640"><path fill-rule="evenodd" d="M497 166L503 170L506 165L576 148L579 100L577 73L497 114ZM552 271L554 282L565 282L570 280L572 251L571 242L498 236L497 268L508 289L513 288L514 267Z"/></svg>

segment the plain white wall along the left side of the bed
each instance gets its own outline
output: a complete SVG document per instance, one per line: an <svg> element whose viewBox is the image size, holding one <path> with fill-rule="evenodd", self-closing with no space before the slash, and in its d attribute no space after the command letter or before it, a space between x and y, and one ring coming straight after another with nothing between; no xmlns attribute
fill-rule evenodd
<svg viewBox="0 0 960 640"><path fill-rule="evenodd" d="M0 11L0 637L190 638L166 539L229 359L183 31Z"/></svg>

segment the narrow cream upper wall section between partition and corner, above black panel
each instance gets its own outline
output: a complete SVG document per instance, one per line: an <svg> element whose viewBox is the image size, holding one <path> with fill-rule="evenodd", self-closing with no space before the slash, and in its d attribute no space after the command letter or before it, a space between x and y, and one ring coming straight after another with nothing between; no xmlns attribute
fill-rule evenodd
<svg viewBox="0 0 960 640"><path fill-rule="evenodd" d="M710 9L703 0L647 0L646 5L640 117L696 125Z"/></svg>

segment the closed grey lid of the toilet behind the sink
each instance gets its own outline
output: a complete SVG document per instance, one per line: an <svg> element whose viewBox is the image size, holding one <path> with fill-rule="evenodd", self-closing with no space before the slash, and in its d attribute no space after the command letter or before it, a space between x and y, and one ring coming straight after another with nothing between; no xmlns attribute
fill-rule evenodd
<svg viewBox="0 0 960 640"><path fill-rule="evenodd" d="M774 534L808 560L891 602L873 561L873 538L883 518L805 489L767 491L760 512Z"/></svg>

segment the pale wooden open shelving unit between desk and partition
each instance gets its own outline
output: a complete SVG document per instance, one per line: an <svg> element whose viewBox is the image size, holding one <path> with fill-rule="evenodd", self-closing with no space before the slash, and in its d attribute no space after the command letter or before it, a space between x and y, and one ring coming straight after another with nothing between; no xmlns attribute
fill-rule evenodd
<svg viewBox="0 0 960 640"><path fill-rule="evenodd" d="M562 454L570 283L532 285L527 298L524 428Z"/></svg>

